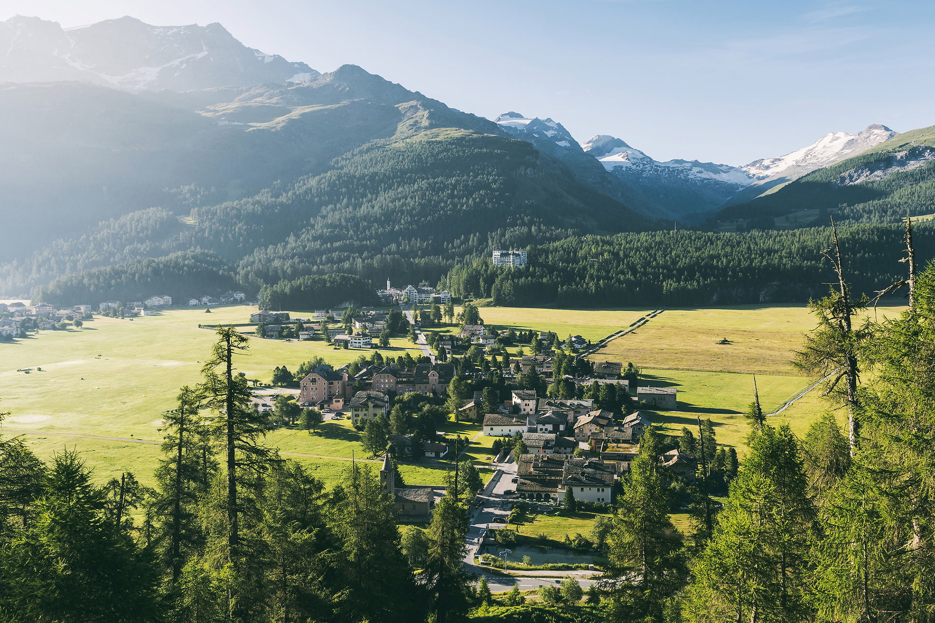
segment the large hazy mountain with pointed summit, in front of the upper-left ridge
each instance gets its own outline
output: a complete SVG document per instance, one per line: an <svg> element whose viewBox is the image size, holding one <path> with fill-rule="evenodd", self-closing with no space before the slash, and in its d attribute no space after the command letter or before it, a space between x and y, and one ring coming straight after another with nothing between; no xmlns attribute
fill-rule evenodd
<svg viewBox="0 0 935 623"><path fill-rule="evenodd" d="M0 129L0 290L51 281L54 302L97 291L114 262L194 250L255 290L306 273L436 278L495 244L654 226L496 123L353 65L187 92L8 83L0 114L19 121Z"/></svg>

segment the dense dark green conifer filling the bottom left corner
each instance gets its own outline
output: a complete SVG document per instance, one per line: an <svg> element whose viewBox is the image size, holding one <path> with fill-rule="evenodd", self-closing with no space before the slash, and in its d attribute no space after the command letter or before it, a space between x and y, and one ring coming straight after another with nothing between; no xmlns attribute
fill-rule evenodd
<svg viewBox="0 0 935 623"><path fill-rule="evenodd" d="M105 517L105 494L74 452L52 460L36 518L0 550L0 612L14 621L155 621L156 573ZM6 586L4 586L6 585Z"/></svg>

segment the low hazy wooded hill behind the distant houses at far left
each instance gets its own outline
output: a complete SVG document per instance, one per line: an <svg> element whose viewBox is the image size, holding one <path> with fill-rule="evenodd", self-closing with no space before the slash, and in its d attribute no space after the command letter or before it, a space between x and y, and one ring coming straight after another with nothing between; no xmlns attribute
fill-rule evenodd
<svg viewBox="0 0 935 623"><path fill-rule="evenodd" d="M202 293L236 290L229 266L213 253L180 251L161 258L145 258L60 276L38 286L33 300L55 305L96 304L100 301L143 301L167 294L178 303Z"/></svg>

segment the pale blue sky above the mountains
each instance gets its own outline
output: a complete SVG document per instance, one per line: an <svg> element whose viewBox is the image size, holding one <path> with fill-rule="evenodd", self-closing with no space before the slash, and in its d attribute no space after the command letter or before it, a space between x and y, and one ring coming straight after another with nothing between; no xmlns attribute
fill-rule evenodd
<svg viewBox="0 0 935 623"><path fill-rule="evenodd" d="M870 123L935 124L930 0L3 0L65 27L218 21L489 119L552 118L656 160L741 165Z"/></svg>

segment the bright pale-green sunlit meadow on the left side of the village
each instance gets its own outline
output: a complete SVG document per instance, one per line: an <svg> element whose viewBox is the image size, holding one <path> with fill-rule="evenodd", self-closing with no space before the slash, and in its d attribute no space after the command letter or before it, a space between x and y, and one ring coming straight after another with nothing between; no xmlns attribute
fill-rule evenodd
<svg viewBox="0 0 935 623"><path fill-rule="evenodd" d="M147 482L159 457L161 414L175 406L181 386L200 381L202 362L214 342L214 333L198 329L198 324L245 322L255 310L236 305L214 307L210 314L178 309L132 320L95 317L80 330L0 343L0 408L10 412L3 432L23 434L44 458L65 447L77 448L100 478L131 469ZM341 365L365 352L336 350L323 341L252 339L250 347L237 368L264 382L277 365L295 371L314 355ZM407 350L421 354L403 339L394 339L381 352L398 356ZM25 369L32 370L27 374ZM350 458L353 451L363 457L347 420L329 420L319 432L273 432L268 443L283 452ZM95 436L119 440L90 438ZM322 464L323 474L343 469L344 461L332 462Z"/></svg>

